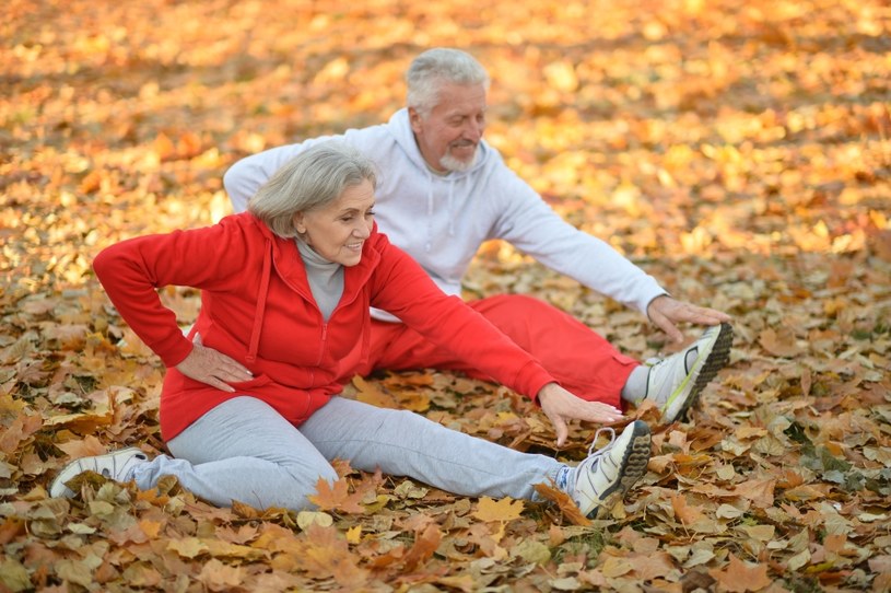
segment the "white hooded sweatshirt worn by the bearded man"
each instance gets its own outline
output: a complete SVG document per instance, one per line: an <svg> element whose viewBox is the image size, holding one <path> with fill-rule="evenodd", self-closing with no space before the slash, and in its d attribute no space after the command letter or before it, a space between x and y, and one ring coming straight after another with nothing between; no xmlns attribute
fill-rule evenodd
<svg viewBox="0 0 891 593"><path fill-rule="evenodd" d="M644 314L653 299L666 294L652 276L608 243L560 218L484 140L470 170L432 173L406 108L387 124L304 140L236 162L223 178L235 211L244 211L248 199L285 162L326 140L352 144L375 162L378 229L448 294L460 295L470 260L492 239L507 241L549 268ZM397 321L383 312L373 313Z"/></svg>

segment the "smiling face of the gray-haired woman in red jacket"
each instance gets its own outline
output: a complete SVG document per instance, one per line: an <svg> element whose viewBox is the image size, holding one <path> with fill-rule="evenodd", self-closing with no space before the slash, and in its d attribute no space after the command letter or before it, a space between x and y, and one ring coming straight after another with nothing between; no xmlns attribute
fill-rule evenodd
<svg viewBox="0 0 891 593"><path fill-rule="evenodd" d="M362 245L374 224L374 187L367 179L351 185L328 206L297 212L294 226L317 254L343 266L362 259Z"/></svg>

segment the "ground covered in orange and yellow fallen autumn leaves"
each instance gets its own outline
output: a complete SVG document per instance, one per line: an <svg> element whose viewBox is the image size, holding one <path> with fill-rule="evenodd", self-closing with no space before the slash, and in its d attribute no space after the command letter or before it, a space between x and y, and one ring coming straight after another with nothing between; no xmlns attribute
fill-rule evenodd
<svg viewBox="0 0 891 593"><path fill-rule="evenodd" d="M891 9L881 0L8 0L0 23L0 591L888 591ZM163 367L92 276L103 246L228 211L237 159L379 123L431 46L494 82L486 137L574 224L736 342L654 430L609 520L355 473L315 513L87 476L163 451ZM593 265L596 265L594 263ZM548 299L646 358L635 312L486 245L468 296ZM197 295L165 289L184 324ZM694 328L688 328L695 336ZM350 393L566 460L547 419L433 372ZM654 420L652 408L631 410Z"/></svg>

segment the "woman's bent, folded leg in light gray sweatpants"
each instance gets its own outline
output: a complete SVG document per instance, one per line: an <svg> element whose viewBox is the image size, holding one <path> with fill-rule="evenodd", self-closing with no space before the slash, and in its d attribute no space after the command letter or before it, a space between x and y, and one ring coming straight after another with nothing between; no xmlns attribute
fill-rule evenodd
<svg viewBox="0 0 891 593"><path fill-rule="evenodd" d="M312 507L307 495L337 473L301 432L266 403L236 397L220 404L167 443L175 458L140 464L133 479L153 488L176 476L197 496L220 507L233 500L266 509Z"/></svg>

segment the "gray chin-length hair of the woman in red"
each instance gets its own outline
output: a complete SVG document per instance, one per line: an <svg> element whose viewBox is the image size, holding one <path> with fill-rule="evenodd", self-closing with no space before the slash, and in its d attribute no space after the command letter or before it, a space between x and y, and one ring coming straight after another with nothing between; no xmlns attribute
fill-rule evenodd
<svg viewBox="0 0 891 593"><path fill-rule="evenodd" d="M327 141L304 150L275 172L247 204L247 210L280 237L297 236L294 216L324 208L348 187L377 185L371 159L349 144Z"/></svg>

